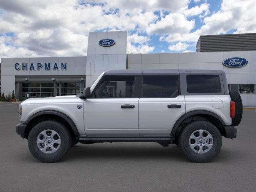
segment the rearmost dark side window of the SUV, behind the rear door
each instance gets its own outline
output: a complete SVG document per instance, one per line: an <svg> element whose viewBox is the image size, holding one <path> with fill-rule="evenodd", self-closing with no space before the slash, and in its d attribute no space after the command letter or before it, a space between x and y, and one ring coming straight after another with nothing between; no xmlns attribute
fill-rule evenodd
<svg viewBox="0 0 256 192"><path fill-rule="evenodd" d="M220 76L187 75L188 93L221 93Z"/></svg>

